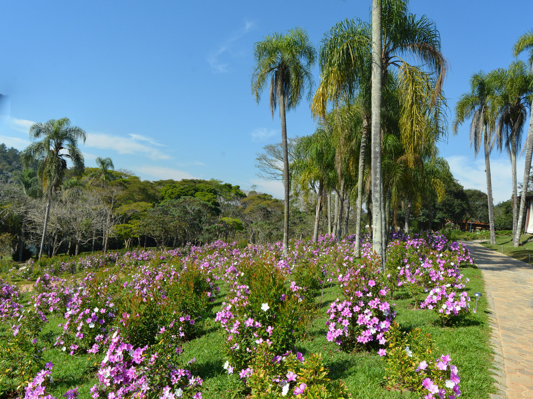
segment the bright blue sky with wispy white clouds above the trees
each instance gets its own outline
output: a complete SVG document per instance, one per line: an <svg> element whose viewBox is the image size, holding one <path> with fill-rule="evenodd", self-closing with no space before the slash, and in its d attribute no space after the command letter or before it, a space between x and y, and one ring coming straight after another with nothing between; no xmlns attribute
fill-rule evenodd
<svg viewBox="0 0 533 399"><path fill-rule="evenodd" d="M25 1L0 13L0 142L25 148L29 127L61 117L88 134L86 166L97 156L142 179L220 179L282 197L279 182L256 176L256 153L281 139L268 95L250 90L253 45L301 26L312 43L346 18L368 20L370 0ZM441 34L450 63L445 94L453 109L479 70L507 67L511 47L533 28L533 2L411 0ZM524 55L525 57L525 55ZM314 70L318 82L318 67ZM289 137L311 134L309 103L287 115ZM524 133L525 134L525 133ZM465 188L486 191L482 154L469 125L448 135L441 155ZM508 157L491 156L495 202L511 197ZM519 181L523 158L518 165Z"/></svg>

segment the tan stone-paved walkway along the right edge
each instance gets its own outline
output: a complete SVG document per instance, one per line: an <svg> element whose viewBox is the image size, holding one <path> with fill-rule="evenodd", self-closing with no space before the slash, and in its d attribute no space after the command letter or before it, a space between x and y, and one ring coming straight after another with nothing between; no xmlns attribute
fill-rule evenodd
<svg viewBox="0 0 533 399"><path fill-rule="evenodd" d="M533 266L464 242L482 270L492 318L493 398L533 399Z"/></svg>

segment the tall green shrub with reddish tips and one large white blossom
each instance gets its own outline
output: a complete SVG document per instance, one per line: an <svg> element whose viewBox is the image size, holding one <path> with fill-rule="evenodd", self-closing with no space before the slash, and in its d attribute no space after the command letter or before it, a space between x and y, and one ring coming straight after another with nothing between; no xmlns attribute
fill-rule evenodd
<svg viewBox="0 0 533 399"><path fill-rule="evenodd" d="M222 310L217 313L226 334L225 346L232 368L244 370L258 342L268 342L273 353L294 348L304 331L303 288L264 260L243 261Z"/></svg>

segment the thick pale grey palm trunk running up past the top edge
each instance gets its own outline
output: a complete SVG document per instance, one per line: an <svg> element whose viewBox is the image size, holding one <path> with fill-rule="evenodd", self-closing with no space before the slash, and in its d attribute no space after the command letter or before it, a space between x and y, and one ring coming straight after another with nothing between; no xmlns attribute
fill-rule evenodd
<svg viewBox="0 0 533 399"><path fill-rule="evenodd" d="M372 0L372 248L383 253L381 201L381 90L382 90L381 0ZM382 260L383 261L383 260Z"/></svg>

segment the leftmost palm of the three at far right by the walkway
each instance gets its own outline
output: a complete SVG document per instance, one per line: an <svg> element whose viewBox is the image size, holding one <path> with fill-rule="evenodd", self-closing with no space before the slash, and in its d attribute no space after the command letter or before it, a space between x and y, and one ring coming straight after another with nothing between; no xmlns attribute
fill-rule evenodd
<svg viewBox="0 0 533 399"><path fill-rule="evenodd" d="M483 142L485 155L485 172L487 175L487 196L489 204L489 227L490 242L496 244L494 232L494 210L492 207L492 181L490 177L489 154L494 143L492 134L495 130L495 119L497 109L495 106L495 87L491 80L483 71L472 75L470 79L471 92L465 93L459 98L455 105L455 121L453 132L457 134L457 129L466 119L472 118L470 124L470 145L474 146L474 155L478 155Z"/></svg>

